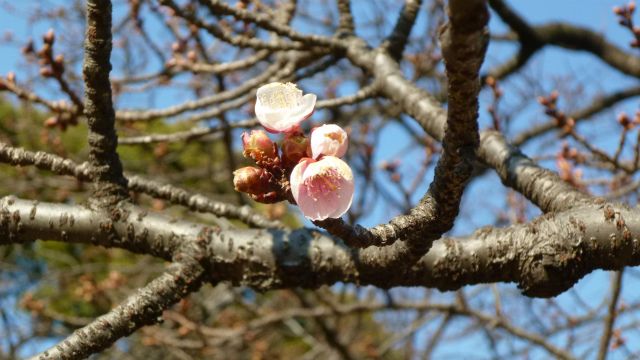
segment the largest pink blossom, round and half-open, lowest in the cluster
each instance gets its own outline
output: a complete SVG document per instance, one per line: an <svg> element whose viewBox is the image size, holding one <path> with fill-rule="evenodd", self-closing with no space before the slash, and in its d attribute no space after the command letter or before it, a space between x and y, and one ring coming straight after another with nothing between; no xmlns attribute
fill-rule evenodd
<svg viewBox="0 0 640 360"><path fill-rule="evenodd" d="M305 158L291 173L291 193L304 216L311 220L341 217L353 201L353 173L334 156Z"/></svg>

